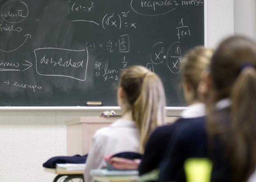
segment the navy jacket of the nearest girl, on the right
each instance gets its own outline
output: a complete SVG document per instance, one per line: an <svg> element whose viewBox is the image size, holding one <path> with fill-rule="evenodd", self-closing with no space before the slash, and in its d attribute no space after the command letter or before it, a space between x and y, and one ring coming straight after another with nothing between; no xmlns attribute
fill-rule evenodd
<svg viewBox="0 0 256 182"><path fill-rule="evenodd" d="M205 117L187 122L173 136L160 166L159 182L186 182L184 162L193 157L208 157L213 161L211 182L231 182L229 155L224 148L220 139L215 138L209 150Z"/></svg>

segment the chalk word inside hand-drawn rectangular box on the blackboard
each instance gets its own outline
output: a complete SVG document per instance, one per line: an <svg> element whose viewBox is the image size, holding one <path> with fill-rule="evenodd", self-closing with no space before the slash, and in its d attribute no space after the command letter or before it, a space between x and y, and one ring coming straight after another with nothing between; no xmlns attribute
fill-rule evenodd
<svg viewBox="0 0 256 182"><path fill-rule="evenodd" d="M70 53L73 54L70 54ZM39 48L34 50L37 73L42 76L62 76L85 81L88 51L61 48Z"/></svg>

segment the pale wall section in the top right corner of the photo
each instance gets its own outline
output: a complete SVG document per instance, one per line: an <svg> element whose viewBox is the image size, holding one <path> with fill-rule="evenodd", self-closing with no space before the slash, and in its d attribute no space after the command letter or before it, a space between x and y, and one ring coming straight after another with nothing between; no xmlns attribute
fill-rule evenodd
<svg viewBox="0 0 256 182"><path fill-rule="evenodd" d="M234 0L235 34L256 40L256 1Z"/></svg>

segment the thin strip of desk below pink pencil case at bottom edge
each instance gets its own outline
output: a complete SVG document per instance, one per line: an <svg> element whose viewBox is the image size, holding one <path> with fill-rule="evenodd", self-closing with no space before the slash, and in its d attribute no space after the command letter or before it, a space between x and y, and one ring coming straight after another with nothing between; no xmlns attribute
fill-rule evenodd
<svg viewBox="0 0 256 182"><path fill-rule="evenodd" d="M94 182L138 182L139 176L94 176Z"/></svg>

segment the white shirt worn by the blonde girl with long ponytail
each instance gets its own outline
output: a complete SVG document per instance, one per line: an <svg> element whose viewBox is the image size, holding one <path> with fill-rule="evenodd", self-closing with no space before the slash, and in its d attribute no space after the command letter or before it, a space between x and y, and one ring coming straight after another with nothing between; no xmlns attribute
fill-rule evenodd
<svg viewBox="0 0 256 182"><path fill-rule="evenodd" d="M104 157L120 152L139 153L139 130L135 121L118 119L108 127L96 131L86 161L84 180L93 182L91 169L106 166Z"/></svg>

